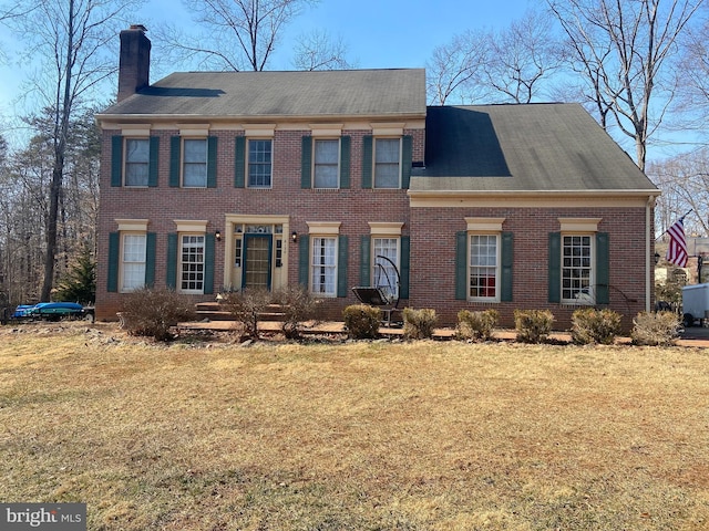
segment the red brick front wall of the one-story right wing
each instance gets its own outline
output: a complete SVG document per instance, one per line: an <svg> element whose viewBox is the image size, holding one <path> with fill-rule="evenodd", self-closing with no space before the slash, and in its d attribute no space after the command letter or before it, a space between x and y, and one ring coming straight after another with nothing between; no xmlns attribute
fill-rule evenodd
<svg viewBox="0 0 709 531"><path fill-rule="evenodd" d="M624 327L645 310L645 208L414 208L411 214L410 303L435 308L452 324L461 309L500 311L503 326L514 326L515 309L551 310L555 329L571 326L576 310L547 302L548 233L559 231L558 218L602 218L599 232L610 240L610 304L624 315ZM499 304L455 300L452 282L455 232L466 230L465 217L505 218L503 230L514 233L513 301ZM424 281L421 281L425 279Z"/></svg>

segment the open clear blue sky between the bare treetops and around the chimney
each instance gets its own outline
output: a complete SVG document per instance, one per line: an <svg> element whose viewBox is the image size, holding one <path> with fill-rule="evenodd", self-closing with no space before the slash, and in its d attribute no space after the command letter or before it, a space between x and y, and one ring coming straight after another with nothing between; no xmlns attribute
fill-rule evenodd
<svg viewBox="0 0 709 531"><path fill-rule="evenodd" d="M314 30L327 30L331 38L341 38L348 46L347 59L361 69L422 67L433 49L469 29L505 28L521 18L528 6L540 0L320 0L306 9L284 33L281 48L274 54L269 70L292 70L291 48L295 38ZM167 17L168 15L168 17ZM134 14L131 23L143 23L147 35L155 41L151 28L169 22L192 24L179 0L148 0ZM13 37L0 27L0 132L12 136L13 117L35 111L31 102L17 102L22 82L31 74L31 66L17 65L12 55ZM155 52L158 46L155 45ZM119 39L115 39L117 62ZM157 59L157 58L155 58ZM154 61L151 81L157 81L174 70L188 66L171 64L169 71L160 71ZM6 124L6 127L2 127Z"/></svg>

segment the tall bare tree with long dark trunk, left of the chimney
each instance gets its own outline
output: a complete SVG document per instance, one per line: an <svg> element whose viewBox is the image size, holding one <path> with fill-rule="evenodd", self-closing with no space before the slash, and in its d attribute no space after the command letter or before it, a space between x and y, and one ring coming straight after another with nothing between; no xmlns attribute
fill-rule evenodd
<svg viewBox="0 0 709 531"><path fill-rule="evenodd" d="M40 61L41 75L34 80L37 96L53 113L53 167L47 217L47 247L41 300L50 300L58 249L58 216L62 197L66 143L72 115L91 92L116 69L112 43L123 13L131 13L138 0L39 0L25 14L9 19L28 44L28 62ZM2 9L13 13L17 2ZM120 24L120 25L119 25Z"/></svg>

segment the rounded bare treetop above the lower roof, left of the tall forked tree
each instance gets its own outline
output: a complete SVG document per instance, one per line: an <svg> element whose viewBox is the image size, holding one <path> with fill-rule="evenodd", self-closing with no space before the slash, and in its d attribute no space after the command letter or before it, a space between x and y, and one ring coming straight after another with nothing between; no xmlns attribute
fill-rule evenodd
<svg viewBox="0 0 709 531"><path fill-rule="evenodd" d="M530 103L538 98L544 82L563 63L552 20L541 11L527 11L508 28L491 33L489 41L485 80L503 101Z"/></svg>

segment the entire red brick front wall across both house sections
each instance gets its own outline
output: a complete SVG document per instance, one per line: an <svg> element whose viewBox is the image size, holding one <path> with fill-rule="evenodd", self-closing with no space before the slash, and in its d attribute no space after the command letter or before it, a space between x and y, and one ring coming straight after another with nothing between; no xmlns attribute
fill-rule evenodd
<svg viewBox="0 0 709 531"><path fill-rule="evenodd" d="M413 136L413 160L423 159L423 131L407 131ZM276 131L271 189L234 188L234 137L240 133L213 131L218 137L217 187L181 189L168 186L169 137L177 131L154 132L161 137L160 183L156 188L111 187L111 137L105 131L101 168L101 209L99 217L99 262L96 315L115 319L121 294L107 293L106 257L109 233L117 229L115 219L148 219L148 230L157 233L156 285L165 284L167 233L175 231L175 219L208 220L207 230L222 230L225 215L279 215L290 217L290 230L307 235L307 221L339 221L340 235L349 237L348 285L358 285L360 237L370 233L369 221L402 222L403 236L411 236L411 282L409 301L401 308L434 308L442 324L454 324L459 310L490 308L456 301L454 294L455 232L465 230L465 217L505 218L504 230L514 232L513 302L494 304L504 326L513 325L518 308L545 309L555 314L556 329L571 325L574 308L547 302L548 232L558 231L559 217L602 218L598 230L610 238L610 308L624 314L628 329L631 317L645 310L645 209L644 208L413 208L405 190L361 188L362 137L370 131L343 131L351 137L350 188L304 190L300 188L301 137L308 131ZM651 218L650 218L651 219ZM228 237L229 235L224 235ZM298 246L289 244L288 282L298 282ZM215 290L224 279L225 243L215 248ZM654 251L653 251L654 252ZM194 296L214 300L214 295ZM326 315L340 319L342 309L357 300L328 299Z"/></svg>

